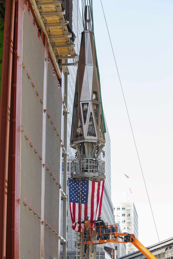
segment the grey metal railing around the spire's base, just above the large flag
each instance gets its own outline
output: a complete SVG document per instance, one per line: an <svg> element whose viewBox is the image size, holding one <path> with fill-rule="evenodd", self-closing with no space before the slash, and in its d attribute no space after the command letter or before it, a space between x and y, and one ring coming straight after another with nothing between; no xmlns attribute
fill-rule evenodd
<svg viewBox="0 0 173 259"><path fill-rule="evenodd" d="M73 160L71 163L71 175L82 174L101 174L105 175L105 161L94 158L82 158L80 160Z"/></svg>

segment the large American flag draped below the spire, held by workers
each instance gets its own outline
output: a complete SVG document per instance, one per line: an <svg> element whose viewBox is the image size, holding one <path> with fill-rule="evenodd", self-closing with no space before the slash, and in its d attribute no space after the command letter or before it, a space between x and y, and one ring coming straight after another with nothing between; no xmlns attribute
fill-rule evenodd
<svg viewBox="0 0 173 259"><path fill-rule="evenodd" d="M88 216L89 220L95 220L100 216L105 180L92 182L90 180L74 181L68 177L70 194L70 213L73 226L76 231L81 231L81 225L75 222L84 221ZM80 203L81 195L81 203ZM94 223L91 223L91 226Z"/></svg>

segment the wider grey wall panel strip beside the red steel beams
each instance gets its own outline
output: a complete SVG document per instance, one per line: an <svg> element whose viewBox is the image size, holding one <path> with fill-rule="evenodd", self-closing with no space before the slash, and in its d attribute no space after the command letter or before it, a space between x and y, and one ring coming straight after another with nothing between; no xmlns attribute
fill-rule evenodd
<svg viewBox="0 0 173 259"><path fill-rule="evenodd" d="M24 12L23 17L23 56L26 70L22 69L21 96L21 172L20 172L20 258L40 258L40 225L38 214L41 214L41 169L42 162L38 154L34 153L34 146L42 156L42 125L43 106L36 89L32 88L32 81L40 96L43 97L44 83L44 46L38 29L33 25L32 13ZM31 80L28 79L27 73ZM26 132L26 133L25 133ZM25 135L29 141L25 140ZM29 142L32 141L33 148ZM28 206L37 213L29 211ZM30 203L30 205L29 205ZM32 255L33 254L33 255Z"/></svg>

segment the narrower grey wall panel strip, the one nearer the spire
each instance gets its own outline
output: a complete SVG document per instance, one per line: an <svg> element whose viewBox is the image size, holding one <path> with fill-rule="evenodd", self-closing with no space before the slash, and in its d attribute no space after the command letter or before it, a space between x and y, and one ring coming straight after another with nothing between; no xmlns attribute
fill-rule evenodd
<svg viewBox="0 0 173 259"><path fill-rule="evenodd" d="M50 69L49 69L50 66ZM61 132L61 109L62 92L58 87L58 79L53 75L53 66L49 61L47 71L47 111L58 130ZM51 119L46 116L46 163L51 170L57 182L60 182L60 156L61 142L54 131L54 125L51 125ZM45 172L45 220L49 222L50 227L58 233L59 220L59 185L53 181L50 172ZM48 224L48 223L47 223ZM48 225L49 225L48 224ZM49 228L45 229L44 235L44 256L45 258L56 258L58 253L58 237L52 233ZM51 255L51 257L50 257Z"/></svg>

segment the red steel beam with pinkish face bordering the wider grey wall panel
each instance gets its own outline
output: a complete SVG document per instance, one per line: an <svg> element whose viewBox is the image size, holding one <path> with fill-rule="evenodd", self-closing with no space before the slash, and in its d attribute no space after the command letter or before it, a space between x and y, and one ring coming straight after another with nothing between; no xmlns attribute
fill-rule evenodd
<svg viewBox="0 0 173 259"><path fill-rule="evenodd" d="M22 31L24 0L16 0L14 95L13 95L13 162L12 162L12 258L19 258L19 213L20 213L20 115L22 80ZM19 57L20 56L20 57ZM15 86L16 84L16 86Z"/></svg>

